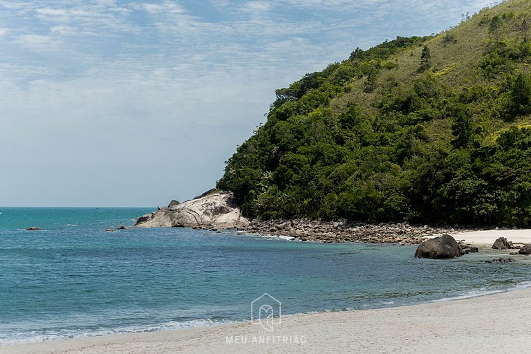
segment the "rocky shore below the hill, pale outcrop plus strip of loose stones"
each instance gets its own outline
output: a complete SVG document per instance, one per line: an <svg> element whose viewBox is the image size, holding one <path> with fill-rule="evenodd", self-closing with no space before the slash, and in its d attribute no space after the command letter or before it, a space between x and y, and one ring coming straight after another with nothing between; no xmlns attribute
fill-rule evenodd
<svg viewBox="0 0 531 354"><path fill-rule="evenodd" d="M300 241L324 243L364 242L414 245L443 234L463 232L452 227L408 223L360 223L339 221L259 220L241 216L230 192L215 189L190 201L171 201L157 212L140 216L136 227L192 227L201 230L236 229L250 234L286 236ZM468 231L468 230L467 230Z"/></svg>

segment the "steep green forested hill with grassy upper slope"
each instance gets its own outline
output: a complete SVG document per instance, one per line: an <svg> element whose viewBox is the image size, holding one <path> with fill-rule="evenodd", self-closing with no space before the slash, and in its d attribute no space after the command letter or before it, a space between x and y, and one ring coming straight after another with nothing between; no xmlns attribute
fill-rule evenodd
<svg viewBox="0 0 531 354"><path fill-rule="evenodd" d="M260 218L531 225L531 3L276 91L218 188Z"/></svg>

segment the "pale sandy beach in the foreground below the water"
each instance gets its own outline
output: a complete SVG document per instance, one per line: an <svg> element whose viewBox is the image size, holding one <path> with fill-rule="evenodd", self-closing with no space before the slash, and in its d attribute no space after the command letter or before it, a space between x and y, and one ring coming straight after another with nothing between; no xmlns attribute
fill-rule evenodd
<svg viewBox="0 0 531 354"><path fill-rule="evenodd" d="M243 322L0 346L0 353L445 353L450 348L508 353L531 344L523 330L531 326L530 315L531 288L524 288L392 308L285 316L272 333Z"/></svg>

